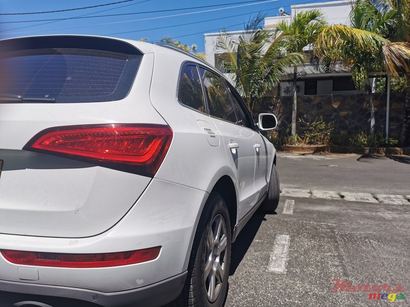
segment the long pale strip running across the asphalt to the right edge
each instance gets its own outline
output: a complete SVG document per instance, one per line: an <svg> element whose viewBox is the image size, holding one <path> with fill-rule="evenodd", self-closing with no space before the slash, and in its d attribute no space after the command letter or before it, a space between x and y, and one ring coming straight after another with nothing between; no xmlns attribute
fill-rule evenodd
<svg viewBox="0 0 410 307"><path fill-rule="evenodd" d="M280 191L281 196L290 196L297 198L314 198L340 200L348 202L365 202L365 203L382 203L387 205L410 205L410 195L386 195L386 194L371 194L357 192L336 192L336 191L321 191L321 190L306 190L283 188Z"/></svg>

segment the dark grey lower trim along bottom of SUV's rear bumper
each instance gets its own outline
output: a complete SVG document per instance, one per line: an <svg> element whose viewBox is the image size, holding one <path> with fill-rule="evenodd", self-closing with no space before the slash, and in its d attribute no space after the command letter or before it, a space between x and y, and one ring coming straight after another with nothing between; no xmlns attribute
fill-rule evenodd
<svg viewBox="0 0 410 307"><path fill-rule="evenodd" d="M181 293L186 278L187 272L183 272L146 287L109 293L0 280L0 301L6 303L6 306L22 307L25 304L38 307L161 306Z"/></svg>

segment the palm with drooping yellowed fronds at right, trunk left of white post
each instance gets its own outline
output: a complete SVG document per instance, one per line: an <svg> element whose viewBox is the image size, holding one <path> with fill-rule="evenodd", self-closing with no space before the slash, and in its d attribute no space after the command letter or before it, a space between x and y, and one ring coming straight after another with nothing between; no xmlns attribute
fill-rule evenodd
<svg viewBox="0 0 410 307"><path fill-rule="evenodd" d="M388 39L394 32L393 25L396 10L383 5L384 0L367 0L358 2L352 8L352 27L336 25L324 27L314 42L314 54L331 62L340 62L344 68L351 69L357 88L371 94L368 73L384 70L388 74L398 76L400 70L408 69L410 44L408 42L392 42ZM385 1L386 3L388 0ZM408 0L397 0L406 2ZM401 16L401 15L400 15ZM409 71L410 78L410 71ZM410 94L407 100L410 100ZM374 131L374 107L371 97L372 120L371 131ZM410 104L410 103L408 103ZM408 105L410 111L410 105ZM403 124L404 128L405 124ZM410 113L408 114L410 131ZM405 141L401 141L402 145Z"/></svg>

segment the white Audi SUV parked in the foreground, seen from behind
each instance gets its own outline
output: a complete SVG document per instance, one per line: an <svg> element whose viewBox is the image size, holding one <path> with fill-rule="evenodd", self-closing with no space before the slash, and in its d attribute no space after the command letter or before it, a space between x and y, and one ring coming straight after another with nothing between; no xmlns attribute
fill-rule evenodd
<svg viewBox="0 0 410 307"><path fill-rule="evenodd" d="M222 306L276 117L168 45L6 39L0 67L0 305Z"/></svg>

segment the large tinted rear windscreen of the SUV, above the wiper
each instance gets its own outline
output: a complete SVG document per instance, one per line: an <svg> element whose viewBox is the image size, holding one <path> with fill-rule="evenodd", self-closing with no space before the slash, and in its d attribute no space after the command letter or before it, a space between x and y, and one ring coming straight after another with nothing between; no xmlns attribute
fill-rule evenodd
<svg viewBox="0 0 410 307"><path fill-rule="evenodd" d="M127 96L142 55L47 48L3 53L8 73L1 94L56 103L120 100Z"/></svg>

